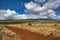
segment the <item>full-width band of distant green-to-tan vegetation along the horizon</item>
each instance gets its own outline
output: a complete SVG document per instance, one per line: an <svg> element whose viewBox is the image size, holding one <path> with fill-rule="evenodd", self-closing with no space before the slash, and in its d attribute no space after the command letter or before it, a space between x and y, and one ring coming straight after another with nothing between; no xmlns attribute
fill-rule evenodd
<svg viewBox="0 0 60 40"><path fill-rule="evenodd" d="M40 23L60 23L59 20L40 20L40 19L26 19L26 20L0 20L0 24L22 24L30 22L40 22Z"/></svg>

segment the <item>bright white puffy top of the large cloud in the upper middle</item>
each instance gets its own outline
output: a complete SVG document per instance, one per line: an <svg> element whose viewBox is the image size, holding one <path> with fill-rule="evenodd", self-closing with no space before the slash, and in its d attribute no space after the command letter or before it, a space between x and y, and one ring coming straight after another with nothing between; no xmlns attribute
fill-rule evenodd
<svg viewBox="0 0 60 40"><path fill-rule="evenodd" d="M44 7L41 7L40 5L34 3L33 1L26 3L25 7L27 8L28 11L32 12L41 12L44 10Z"/></svg>

